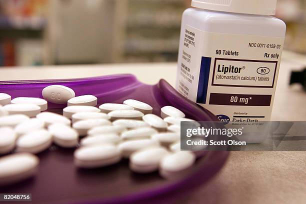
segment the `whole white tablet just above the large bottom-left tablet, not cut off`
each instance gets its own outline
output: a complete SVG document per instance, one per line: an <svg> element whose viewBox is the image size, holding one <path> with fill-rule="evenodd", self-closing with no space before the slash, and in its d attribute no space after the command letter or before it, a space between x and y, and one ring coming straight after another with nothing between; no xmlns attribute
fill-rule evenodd
<svg viewBox="0 0 306 204"><path fill-rule="evenodd" d="M20 136L16 142L16 151L39 153L52 143L51 133L45 129L31 131Z"/></svg>

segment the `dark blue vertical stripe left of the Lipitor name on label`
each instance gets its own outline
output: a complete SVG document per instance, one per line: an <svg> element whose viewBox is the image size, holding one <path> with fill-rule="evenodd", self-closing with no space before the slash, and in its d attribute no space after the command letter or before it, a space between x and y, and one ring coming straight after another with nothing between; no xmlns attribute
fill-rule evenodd
<svg viewBox="0 0 306 204"><path fill-rule="evenodd" d="M196 96L196 102L198 103L206 103L210 63L211 57L202 56Z"/></svg>

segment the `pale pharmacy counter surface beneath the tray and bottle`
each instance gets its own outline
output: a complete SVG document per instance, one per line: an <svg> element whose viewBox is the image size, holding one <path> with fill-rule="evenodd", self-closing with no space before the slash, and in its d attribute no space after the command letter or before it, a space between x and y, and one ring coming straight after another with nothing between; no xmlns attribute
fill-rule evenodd
<svg viewBox="0 0 306 204"><path fill-rule="evenodd" d="M288 86L290 71L303 62L284 58L275 93L272 120L306 120L306 92ZM132 73L155 84L160 78L175 84L174 63L67 65L0 68L0 80L75 78ZM306 152L232 152L220 173L190 194L184 203L305 203Z"/></svg>

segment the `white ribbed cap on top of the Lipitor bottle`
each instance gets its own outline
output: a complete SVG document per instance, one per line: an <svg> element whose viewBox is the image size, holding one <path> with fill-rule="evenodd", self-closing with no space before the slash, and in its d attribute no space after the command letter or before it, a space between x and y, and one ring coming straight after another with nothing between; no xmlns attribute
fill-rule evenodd
<svg viewBox="0 0 306 204"><path fill-rule="evenodd" d="M277 0L192 0L191 5L208 10L274 15Z"/></svg>

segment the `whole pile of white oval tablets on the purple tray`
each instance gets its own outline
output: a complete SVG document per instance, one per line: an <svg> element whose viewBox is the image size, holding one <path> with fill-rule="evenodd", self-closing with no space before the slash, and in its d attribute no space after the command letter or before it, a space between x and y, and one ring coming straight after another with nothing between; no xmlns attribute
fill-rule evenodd
<svg viewBox="0 0 306 204"><path fill-rule="evenodd" d="M180 151L180 121L194 121L172 106L160 109L161 117L144 102L97 106L94 95L75 96L71 88L50 85L41 98L0 93L0 185L35 175L36 153L55 143L76 147L74 163L97 168L129 159L138 173L159 170L163 177L185 172L195 161L190 151ZM67 104L62 115L45 111L47 102ZM8 154L11 153L11 154ZM3 155L4 154L4 155Z"/></svg>

